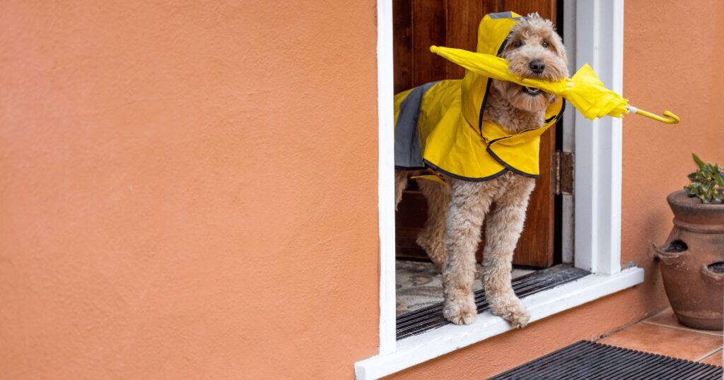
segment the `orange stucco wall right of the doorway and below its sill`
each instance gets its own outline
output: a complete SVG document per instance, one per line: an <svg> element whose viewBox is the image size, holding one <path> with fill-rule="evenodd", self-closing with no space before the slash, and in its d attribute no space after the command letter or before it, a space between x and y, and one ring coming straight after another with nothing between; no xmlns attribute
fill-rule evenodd
<svg viewBox="0 0 724 380"><path fill-rule="evenodd" d="M484 378L557 348L605 334L667 305L649 246L671 229L665 197L686 184L694 151L724 163L724 2L636 0L625 3L624 95L643 109L671 109L683 122L623 121L622 253L646 270L631 290L605 297L525 329L503 334L390 376L395 379Z"/></svg>

